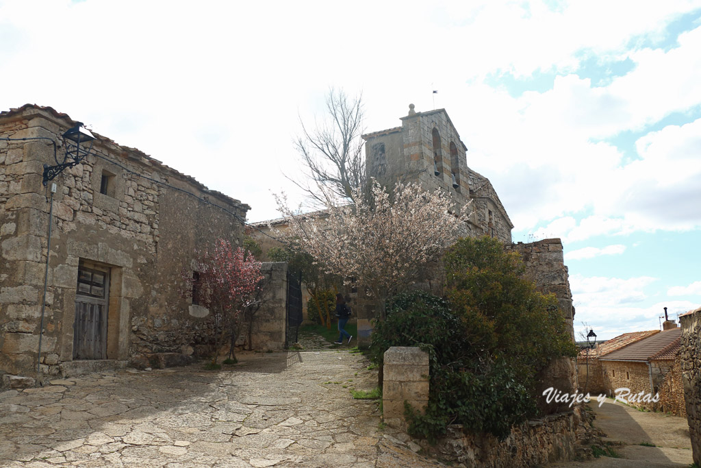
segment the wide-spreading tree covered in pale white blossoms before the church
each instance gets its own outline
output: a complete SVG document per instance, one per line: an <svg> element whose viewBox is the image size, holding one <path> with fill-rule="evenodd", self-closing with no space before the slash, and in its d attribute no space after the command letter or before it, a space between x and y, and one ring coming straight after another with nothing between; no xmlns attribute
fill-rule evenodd
<svg viewBox="0 0 701 468"><path fill-rule="evenodd" d="M369 196L341 201L325 192L326 209L301 214L278 197L287 230L278 232L294 248L308 253L343 278L355 278L376 298L377 315L385 319L385 301L409 286L457 239L461 216L441 189L427 192L415 183L397 183L388 192L372 181ZM468 203L464 208L470 206Z"/></svg>

